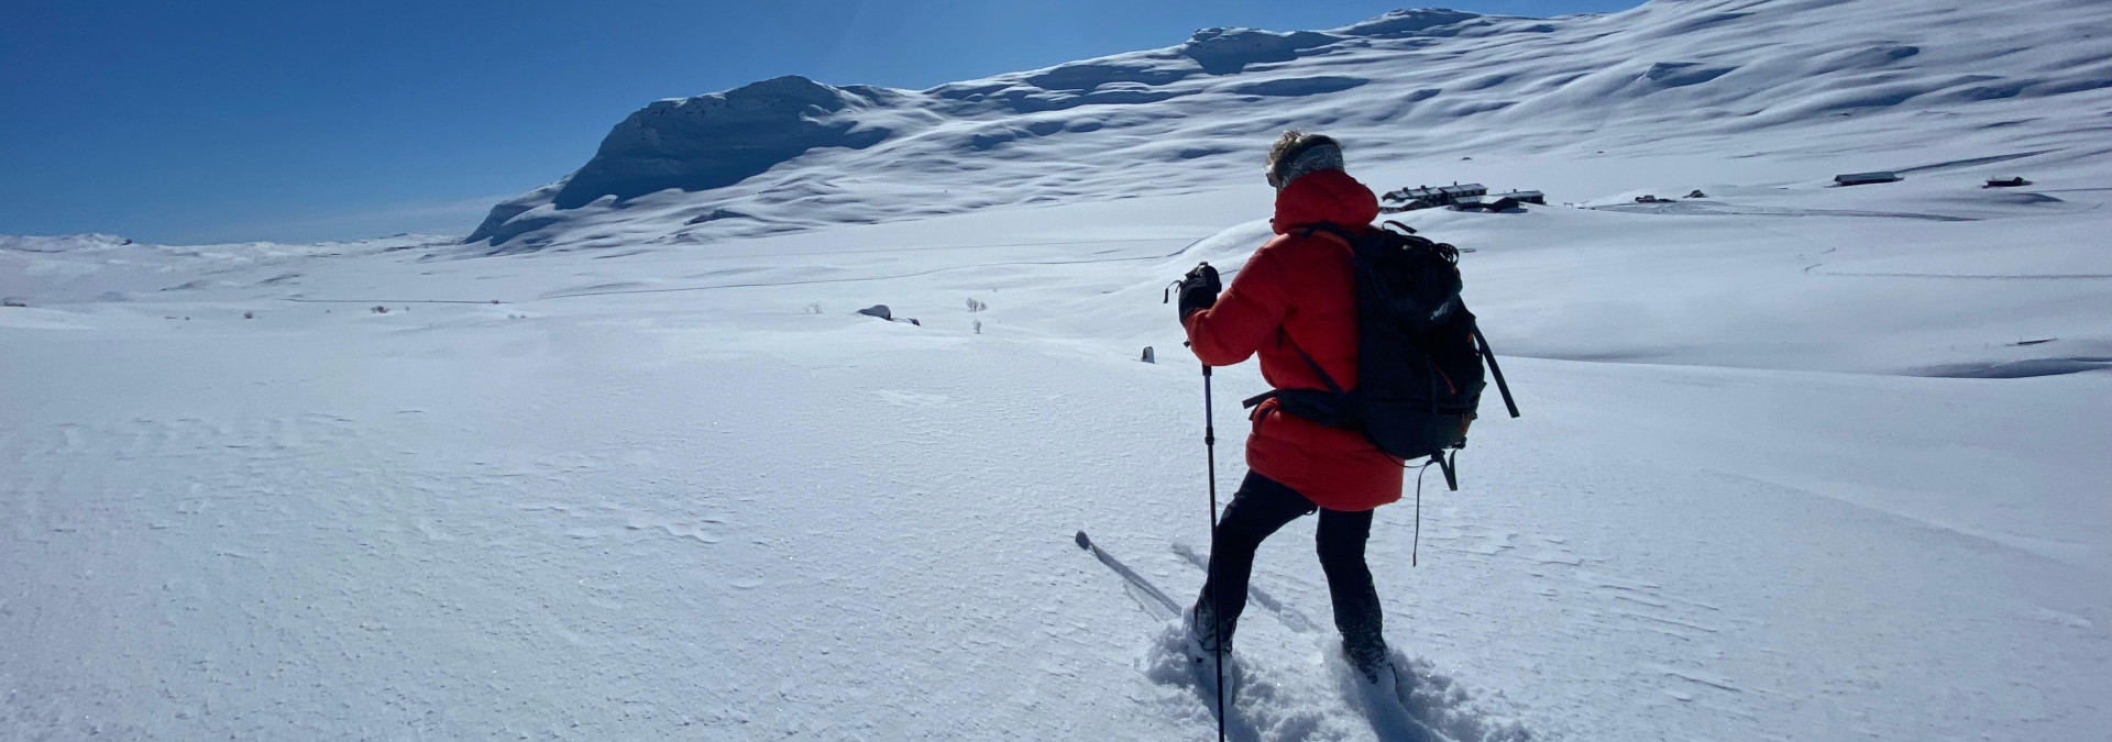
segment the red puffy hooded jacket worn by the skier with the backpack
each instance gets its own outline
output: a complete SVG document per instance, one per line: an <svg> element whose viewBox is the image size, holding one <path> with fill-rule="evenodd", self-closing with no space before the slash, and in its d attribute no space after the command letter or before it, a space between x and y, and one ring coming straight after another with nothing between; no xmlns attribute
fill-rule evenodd
<svg viewBox="0 0 2112 742"><path fill-rule="evenodd" d="M1379 198L1343 171L1307 173L1276 194L1276 238L1246 259L1217 306L1183 318L1202 363L1229 367L1261 354L1274 388L1326 390L1299 348L1341 388L1356 388L1356 295L1350 245L1301 226L1350 228L1379 217ZM1328 510L1371 510L1400 500L1402 460L1362 432L1293 417L1276 401L1255 407L1246 466Z"/></svg>

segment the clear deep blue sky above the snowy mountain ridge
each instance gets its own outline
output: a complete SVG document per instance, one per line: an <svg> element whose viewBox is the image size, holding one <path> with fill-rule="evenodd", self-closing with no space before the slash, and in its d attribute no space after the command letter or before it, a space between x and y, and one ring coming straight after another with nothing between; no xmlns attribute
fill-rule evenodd
<svg viewBox="0 0 2112 742"><path fill-rule="evenodd" d="M1453 0L1502 15L1639 0ZM663 97L781 74L925 89L1333 27L1388 0L106 2L0 11L0 234L467 234Z"/></svg>

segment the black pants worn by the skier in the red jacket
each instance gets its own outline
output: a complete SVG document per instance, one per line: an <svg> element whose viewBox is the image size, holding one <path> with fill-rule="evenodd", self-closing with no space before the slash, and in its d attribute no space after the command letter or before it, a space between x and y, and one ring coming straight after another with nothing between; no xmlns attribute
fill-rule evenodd
<svg viewBox="0 0 2112 742"><path fill-rule="evenodd" d="M1233 626L1246 609L1246 580L1255 571L1255 550L1261 542L1307 512L1320 510L1320 533L1314 540L1320 552L1320 569L1326 571L1326 590L1335 601L1335 628L1352 658L1385 651L1381 639L1383 613L1379 611L1379 590L1371 586L1371 567L1364 565L1364 542L1371 538L1371 510L1345 512L1316 506L1295 489L1246 472L1240 491L1225 506L1225 516L1217 523L1217 546L1210 548L1210 578L1195 597L1195 605L1210 605L1217 594L1217 616L1223 618L1225 645L1231 643Z"/></svg>

